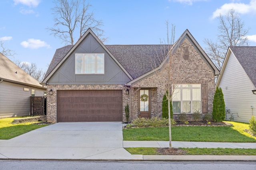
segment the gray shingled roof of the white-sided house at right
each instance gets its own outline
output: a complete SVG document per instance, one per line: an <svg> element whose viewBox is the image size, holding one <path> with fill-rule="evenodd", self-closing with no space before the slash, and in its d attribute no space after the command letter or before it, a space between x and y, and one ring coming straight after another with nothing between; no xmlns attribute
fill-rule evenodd
<svg viewBox="0 0 256 170"><path fill-rule="evenodd" d="M256 86L256 47L229 47Z"/></svg>

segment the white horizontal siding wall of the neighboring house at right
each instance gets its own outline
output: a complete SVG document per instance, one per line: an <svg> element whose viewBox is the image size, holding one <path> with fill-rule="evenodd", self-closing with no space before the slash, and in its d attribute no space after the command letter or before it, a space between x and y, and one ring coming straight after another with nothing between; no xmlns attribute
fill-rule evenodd
<svg viewBox="0 0 256 170"><path fill-rule="evenodd" d="M230 54L219 87L222 88L227 109L234 115L234 121L249 123L252 115L256 116L256 95L252 93L254 86L233 53ZM227 120L229 117L230 114L227 114Z"/></svg>

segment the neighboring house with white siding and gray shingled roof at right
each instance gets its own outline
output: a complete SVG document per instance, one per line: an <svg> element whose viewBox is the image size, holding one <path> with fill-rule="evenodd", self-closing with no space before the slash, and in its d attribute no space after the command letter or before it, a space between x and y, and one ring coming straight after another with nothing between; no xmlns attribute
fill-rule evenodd
<svg viewBox="0 0 256 170"><path fill-rule="evenodd" d="M256 47L229 47L220 72L226 119L249 123L256 115Z"/></svg>

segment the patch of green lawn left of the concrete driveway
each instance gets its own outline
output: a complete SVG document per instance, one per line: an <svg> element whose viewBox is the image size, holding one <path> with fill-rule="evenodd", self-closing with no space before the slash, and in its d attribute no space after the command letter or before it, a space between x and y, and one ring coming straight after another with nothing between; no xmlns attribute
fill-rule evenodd
<svg viewBox="0 0 256 170"><path fill-rule="evenodd" d="M20 117L10 117L0 119L0 139L12 139L29 131L44 127L47 125L32 125L35 122L12 124L13 119Z"/></svg>

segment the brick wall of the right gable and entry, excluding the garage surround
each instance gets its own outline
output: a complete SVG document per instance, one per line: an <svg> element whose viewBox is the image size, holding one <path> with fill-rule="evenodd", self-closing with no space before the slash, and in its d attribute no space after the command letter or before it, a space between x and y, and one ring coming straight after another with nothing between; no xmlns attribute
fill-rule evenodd
<svg viewBox="0 0 256 170"><path fill-rule="evenodd" d="M186 59L183 58L185 47L189 51ZM215 90L214 73L190 41L185 38L176 53L171 57L170 64L166 64L166 67L160 73L156 73L131 86L132 118L138 117L138 92L136 90L145 87L150 87L151 89L151 117L162 116L162 98L164 96L165 86L161 79L166 78L163 75L168 74L167 67L172 67L171 74L169 75L172 75L174 78L171 78L171 84L207 84L208 112L212 112L212 101ZM177 115L174 115L174 118L176 117ZM188 118L192 120L192 115L188 115Z"/></svg>

